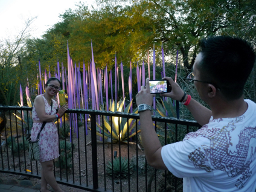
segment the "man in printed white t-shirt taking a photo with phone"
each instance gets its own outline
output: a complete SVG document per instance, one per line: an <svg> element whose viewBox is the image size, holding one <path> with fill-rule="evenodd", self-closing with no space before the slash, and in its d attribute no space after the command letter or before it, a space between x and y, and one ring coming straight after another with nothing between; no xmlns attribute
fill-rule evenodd
<svg viewBox="0 0 256 192"><path fill-rule="evenodd" d="M184 191L255 191L256 104L243 98L255 52L245 40L228 36L203 39L200 46L187 78L211 110L170 77L164 79L171 92L161 96L185 104L201 129L162 147L150 118L153 98L148 78L136 95L147 162L184 178Z"/></svg>

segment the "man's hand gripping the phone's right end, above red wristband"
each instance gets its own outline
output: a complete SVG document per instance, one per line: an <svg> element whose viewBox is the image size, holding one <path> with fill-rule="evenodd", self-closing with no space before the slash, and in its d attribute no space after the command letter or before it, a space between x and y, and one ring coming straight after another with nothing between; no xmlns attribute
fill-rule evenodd
<svg viewBox="0 0 256 192"><path fill-rule="evenodd" d="M164 77L163 80L168 80L171 86L171 92L167 92L166 94L160 94L162 97L170 97L173 100L180 101L184 95L184 91L178 85L178 83L173 82L171 77Z"/></svg>

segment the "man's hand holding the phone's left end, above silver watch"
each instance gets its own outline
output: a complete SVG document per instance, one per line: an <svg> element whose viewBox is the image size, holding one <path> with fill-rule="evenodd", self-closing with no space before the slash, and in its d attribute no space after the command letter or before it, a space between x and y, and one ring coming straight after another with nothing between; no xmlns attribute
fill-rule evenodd
<svg viewBox="0 0 256 192"><path fill-rule="evenodd" d="M146 79L146 87L141 86L141 91L136 95L136 104L149 104L152 106L154 94L149 91L149 78Z"/></svg>

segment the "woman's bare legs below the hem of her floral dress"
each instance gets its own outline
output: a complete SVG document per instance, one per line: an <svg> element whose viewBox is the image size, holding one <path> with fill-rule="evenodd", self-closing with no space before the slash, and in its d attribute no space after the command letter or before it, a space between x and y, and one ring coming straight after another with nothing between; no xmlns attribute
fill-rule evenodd
<svg viewBox="0 0 256 192"><path fill-rule="evenodd" d="M45 187L45 183L46 183L46 186L47 186L47 184L49 184L55 192L63 192L62 189L57 184L56 179L53 174L53 160L40 162L40 163L42 165L41 189L43 190L43 188Z"/></svg>

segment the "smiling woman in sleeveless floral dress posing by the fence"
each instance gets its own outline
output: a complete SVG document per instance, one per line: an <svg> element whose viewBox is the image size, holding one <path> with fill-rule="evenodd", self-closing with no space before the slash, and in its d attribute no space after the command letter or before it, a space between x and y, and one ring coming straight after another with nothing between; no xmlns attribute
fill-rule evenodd
<svg viewBox="0 0 256 192"><path fill-rule="evenodd" d="M39 161L42 165L40 191L42 192L48 191L47 184L49 184L54 191L62 191L53 173L53 159L59 157L59 137L54 121L56 118L62 117L66 109L68 109L68 105L64 104L56 114L58 104L57 101L53 100L53 97L59 90L59 79L54 77L49 78L45 85L45 94L36 97L32 110L33 127L31 131L31 141L36 141L43 121L46 121L45 127L39 137Z"/></svg>

